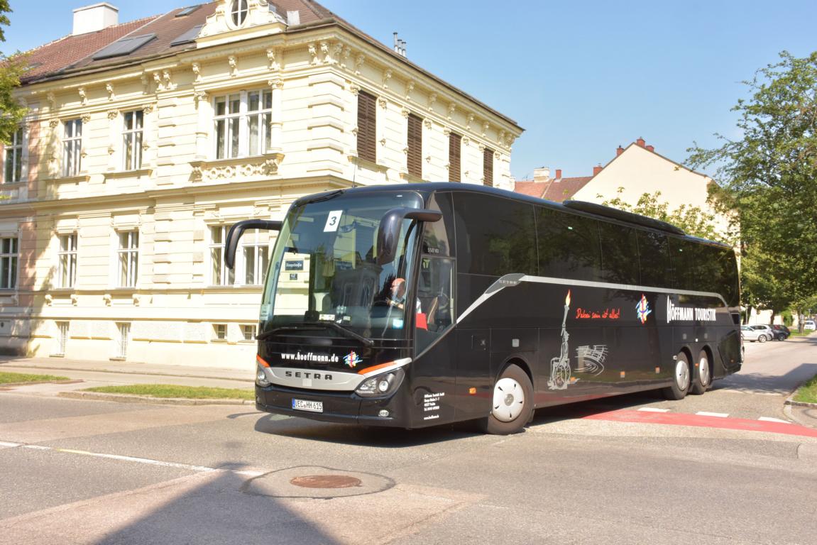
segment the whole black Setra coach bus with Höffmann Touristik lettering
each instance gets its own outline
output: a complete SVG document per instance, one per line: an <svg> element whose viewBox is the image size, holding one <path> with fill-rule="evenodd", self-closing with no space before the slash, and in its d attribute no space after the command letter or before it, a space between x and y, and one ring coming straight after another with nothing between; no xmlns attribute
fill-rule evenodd
<svg viewBox="0 0 817 545"><path fill-rule="evenodd" d="M361 187L292 203L261 302L257 408L418 428L661 389L740 369L734 252L663 221L479 185Z"/></svg>

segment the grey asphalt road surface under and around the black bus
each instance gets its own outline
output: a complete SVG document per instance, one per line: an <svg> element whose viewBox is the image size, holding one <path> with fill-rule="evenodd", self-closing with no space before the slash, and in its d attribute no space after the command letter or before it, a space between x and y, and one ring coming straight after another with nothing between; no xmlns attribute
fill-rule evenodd
<svg viewBox="0 0 817 545"><path fill-rule="evenodd" d="M788 420L815 342L749 344L703 396L547 409L507 437L2 392L0 541L815 543L817 434L727 429ZM605 417L650 411L712 425Z"/></svg>

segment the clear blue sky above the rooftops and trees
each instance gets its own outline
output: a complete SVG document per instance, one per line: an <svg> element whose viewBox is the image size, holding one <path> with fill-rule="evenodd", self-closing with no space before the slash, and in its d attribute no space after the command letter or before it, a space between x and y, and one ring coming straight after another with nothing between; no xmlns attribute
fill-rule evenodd
<svg viewBox="0 0 817 545"><path fill-rule="evenodd" d="M96 0L11 0L2 51L69 34L72 10ZM196 0L108 0L120 22ZM814 0L550 2L322 0L338 16L514 119L525 132L511 173L587 176L642 136L682 162L698 141L735 136L742 80L779 51L817 50Z"/></svg>

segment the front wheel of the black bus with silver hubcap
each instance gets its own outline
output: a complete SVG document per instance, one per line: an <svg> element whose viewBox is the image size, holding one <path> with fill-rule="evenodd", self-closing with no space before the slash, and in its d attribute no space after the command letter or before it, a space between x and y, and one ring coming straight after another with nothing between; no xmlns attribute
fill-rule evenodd
<svg viewBox="0 0 817 545"><path fill-rule="evenodd" d="M534 385L518 365L508 365L493 385L491 413L482 421L482 430L507 436L525 427L534 416Z"/></svg>

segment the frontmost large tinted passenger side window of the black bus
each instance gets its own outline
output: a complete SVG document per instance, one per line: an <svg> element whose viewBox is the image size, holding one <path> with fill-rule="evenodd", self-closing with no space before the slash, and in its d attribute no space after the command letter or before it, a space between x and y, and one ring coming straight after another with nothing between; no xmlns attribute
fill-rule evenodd
<svg viewBox="0 0 817 545"><path fill-rule="evenodd" d="M454 195L458 272L536 275L534 206L483 194Z"/></svg>

